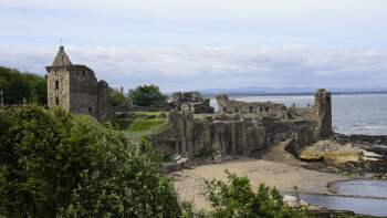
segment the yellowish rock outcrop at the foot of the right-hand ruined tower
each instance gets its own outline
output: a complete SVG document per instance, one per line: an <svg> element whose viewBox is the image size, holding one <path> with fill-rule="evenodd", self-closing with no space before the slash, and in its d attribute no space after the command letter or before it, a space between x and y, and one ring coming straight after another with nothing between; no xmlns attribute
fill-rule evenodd
<svg viewBox="0 0 387 218"><path fill-rule="evenodd" d="M364 156L362 149L351 144L341 145L333 141L321 141L299 152L300 159L324 162L358 162Z"/></svg>

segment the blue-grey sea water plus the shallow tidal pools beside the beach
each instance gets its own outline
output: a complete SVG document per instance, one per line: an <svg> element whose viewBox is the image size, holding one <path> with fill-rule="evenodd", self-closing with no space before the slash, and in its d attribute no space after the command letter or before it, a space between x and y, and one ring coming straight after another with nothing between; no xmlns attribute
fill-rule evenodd
<svg viewBox="0 0 387 218"><path fill-rule="evenodd" d="M243 102L274 102L283 103L286 107L307 107L314 104L313 95L297 96L241 96L230 97ZM211 106L219 110L216 98L211 98ZM332 95L332 125L334 132L341 134L358 135L387 135L387 94L356 94L356 95ZM385 147L386 145L379 145ZM362 180L359 194L353 191L353 185L341 184L341 190L345 189L348 195L378 196L386 191L385 181ZM358 181L345 181L357 184ZM372 185L369 185L372 184ZM357 184L358 185L358 184ZM380 190L381 187L381 190ZM351 189L353 188L353 189ZM348 191L347 190L352 190ZM376 190L377 189L377 190ZM357 214L387 217L387 199L356 198L327 195L300 194L301 198L311 205L326 207L328 209L352 210Z"/></svg>

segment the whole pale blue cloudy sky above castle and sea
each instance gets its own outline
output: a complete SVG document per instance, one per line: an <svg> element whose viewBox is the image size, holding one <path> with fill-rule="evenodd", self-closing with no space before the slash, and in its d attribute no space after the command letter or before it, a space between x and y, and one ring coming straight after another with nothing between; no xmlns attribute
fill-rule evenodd
<svg viewBox="0 0 387 218"><path fill-rule="evenodd" d="M10 0L0 65L74 64L125 90L386 87L386 0Z"/></svg>

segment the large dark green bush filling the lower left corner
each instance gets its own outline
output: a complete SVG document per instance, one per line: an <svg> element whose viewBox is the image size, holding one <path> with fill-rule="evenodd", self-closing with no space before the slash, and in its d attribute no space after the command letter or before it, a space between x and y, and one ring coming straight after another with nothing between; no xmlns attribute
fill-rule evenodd
<svg viewBox="0 0 387 218"><path fill-rule="evenodd" d="M90 128L36 105L4 110L0 123L0 215L55 217L91 167Z"/></svg>

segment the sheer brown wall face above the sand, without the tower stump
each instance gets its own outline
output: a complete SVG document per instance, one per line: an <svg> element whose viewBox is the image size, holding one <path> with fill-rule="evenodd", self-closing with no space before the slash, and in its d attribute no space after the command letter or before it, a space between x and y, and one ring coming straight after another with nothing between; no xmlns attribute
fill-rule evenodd
<svg viewBox="0 0 387 218"><path fill-rule="evenodd" d="M228 116L227 116L228 117ZM218 117L221 118L221 117ZM178 153L195 159L217 150L222 158L261 156L272 145L294 138L291 149L299 149L316 141L316 122L274 122L257 118L194 120L191 114L170 113L172 127L151 136L163 156Z"/></svg>

